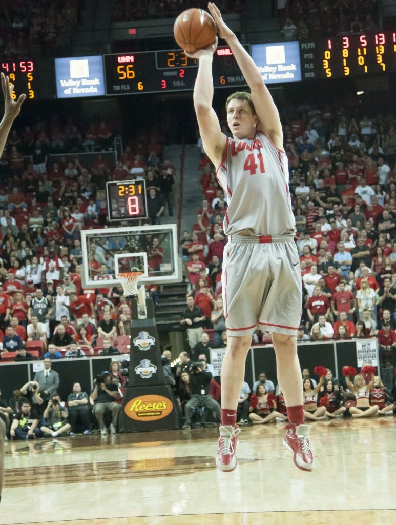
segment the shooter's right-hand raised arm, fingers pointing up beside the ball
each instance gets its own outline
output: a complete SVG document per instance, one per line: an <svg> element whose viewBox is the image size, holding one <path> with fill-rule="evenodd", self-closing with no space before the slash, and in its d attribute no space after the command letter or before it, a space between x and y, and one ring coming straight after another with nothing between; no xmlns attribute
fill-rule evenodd
<svg viewBox="0 0 396 525"><path fill-rule="evenodd" d="M218 27L219 36L226 40L230 46L251 90L254 108L259 117L258 129L264 131L278 148L283 148L283 132L279 112L272 100L271 93L264 84L260 71L254 64L252 57L222 19L218 7L213 2L209 2L208 9Z"/></svg>

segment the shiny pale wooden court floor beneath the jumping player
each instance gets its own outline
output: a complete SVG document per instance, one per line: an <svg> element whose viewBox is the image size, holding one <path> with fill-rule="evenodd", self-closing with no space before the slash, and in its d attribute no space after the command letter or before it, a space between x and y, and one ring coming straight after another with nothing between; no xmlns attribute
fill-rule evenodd
<svg viewBox="0 0 396 525"><path fill-rule="evenodd" d="M312 472L283 428L242 427L228 474L216 428L8 442L0 524L396 523L396 417L313 423Z"/></svg>

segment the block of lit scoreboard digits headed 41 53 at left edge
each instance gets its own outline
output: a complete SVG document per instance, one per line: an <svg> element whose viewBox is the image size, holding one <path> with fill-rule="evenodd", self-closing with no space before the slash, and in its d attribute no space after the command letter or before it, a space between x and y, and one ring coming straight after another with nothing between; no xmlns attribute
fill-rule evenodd
<svg viewBox="0 0 396 525"><path fill-rule="evenodd" d="M14 84L12 97L16 100L21 93L26 93L26 98L37 98L36 71L34 60L0 59L0 71Z"/></svg>

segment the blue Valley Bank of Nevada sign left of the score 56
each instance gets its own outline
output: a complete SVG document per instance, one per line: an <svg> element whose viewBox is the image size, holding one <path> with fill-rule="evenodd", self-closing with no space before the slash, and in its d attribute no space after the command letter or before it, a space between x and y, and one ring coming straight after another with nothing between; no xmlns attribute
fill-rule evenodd
<svg viewBox="0 0 396 525"><path fill-rule="evenodd" d="M102 56L55 59L58 98L104 95Z"/></svg>

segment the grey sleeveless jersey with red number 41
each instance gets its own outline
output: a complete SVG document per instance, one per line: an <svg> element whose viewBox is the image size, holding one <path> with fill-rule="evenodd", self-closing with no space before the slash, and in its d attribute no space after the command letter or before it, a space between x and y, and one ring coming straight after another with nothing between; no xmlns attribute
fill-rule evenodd
<svg viewBox="0 0 396 525"><path fill-rule="evenodd" d="M295 234L284 151L261 131L253 140L227 138L217 180L228 201L227 235L249 229L254 235Z"/></svg>

